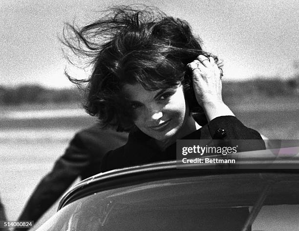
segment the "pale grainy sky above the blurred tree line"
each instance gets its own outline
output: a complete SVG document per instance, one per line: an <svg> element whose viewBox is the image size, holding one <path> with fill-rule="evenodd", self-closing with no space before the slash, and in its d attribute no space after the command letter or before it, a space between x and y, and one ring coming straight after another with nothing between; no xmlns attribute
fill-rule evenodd
<svg viewBox="0 0 299 231"><path fill-rule="evenodd" d="M225 80L298 72L298 0L0 0L0 85L71 86L57 38L64 23L85 25L107 7L137 3L189 22L223 60Z"/></svg>

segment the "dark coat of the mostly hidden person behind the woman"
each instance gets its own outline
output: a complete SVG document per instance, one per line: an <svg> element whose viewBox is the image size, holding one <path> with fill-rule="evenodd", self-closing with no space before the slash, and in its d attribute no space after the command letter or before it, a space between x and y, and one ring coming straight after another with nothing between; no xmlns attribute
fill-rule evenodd
<svg viewBox="0 0 299 231"><path fill-rule="evenodd" d="M103 155L125 144L127 139L127 133L103 130L99 125L77 133L64 155L37 185L19 220L36 222L78 177L83 180L99 173Z"/></svg>

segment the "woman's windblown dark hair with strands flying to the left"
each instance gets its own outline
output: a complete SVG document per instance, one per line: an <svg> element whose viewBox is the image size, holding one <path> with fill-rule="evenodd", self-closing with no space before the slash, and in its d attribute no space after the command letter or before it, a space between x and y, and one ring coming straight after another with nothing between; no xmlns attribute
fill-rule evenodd
<svg viewBox="0 0 299 231"><path fill-rule="evenodd" d="M121 89L134 83L151 91L182 83L191 111L200 110L187 64L200 54L221 64L202 50L202 41L192 35L190 25L153 7L119 6L105 12L81 29L66 24L62 38L75 55L87 58L93 66L91 76L84 80L65 72L77 86L87 83L87 113L97 116L104 126L129 131L134 115Z"/></svg>

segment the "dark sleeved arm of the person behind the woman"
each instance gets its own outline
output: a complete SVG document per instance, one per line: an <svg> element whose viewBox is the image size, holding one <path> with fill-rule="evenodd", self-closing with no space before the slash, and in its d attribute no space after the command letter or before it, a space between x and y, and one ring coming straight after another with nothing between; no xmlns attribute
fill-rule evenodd
<svg viewBox="0 0 299 231"><path fill-rule="evenodd" d="M78 133L71 140L64 155L55 162L52 170L37 185L19 220L36 222L84 171L88 164L89 156L86 153L81 135Z"/></svg>

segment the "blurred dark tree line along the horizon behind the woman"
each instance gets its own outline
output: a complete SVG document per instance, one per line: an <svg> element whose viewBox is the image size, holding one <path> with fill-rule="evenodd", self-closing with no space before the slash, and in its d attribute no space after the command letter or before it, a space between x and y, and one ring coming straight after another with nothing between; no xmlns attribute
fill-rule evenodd
<svg viewBox="0 0 299 231"><path fill-rule="evenodd" d="M223 98L228 100L296 95L299 95L299 76L288 80L259 77L242 82L223 82ZM22 85L15 88L0 86L0 105L59 104L82 100L83 92L77 88L47 89L38 85Z"/></svg>

